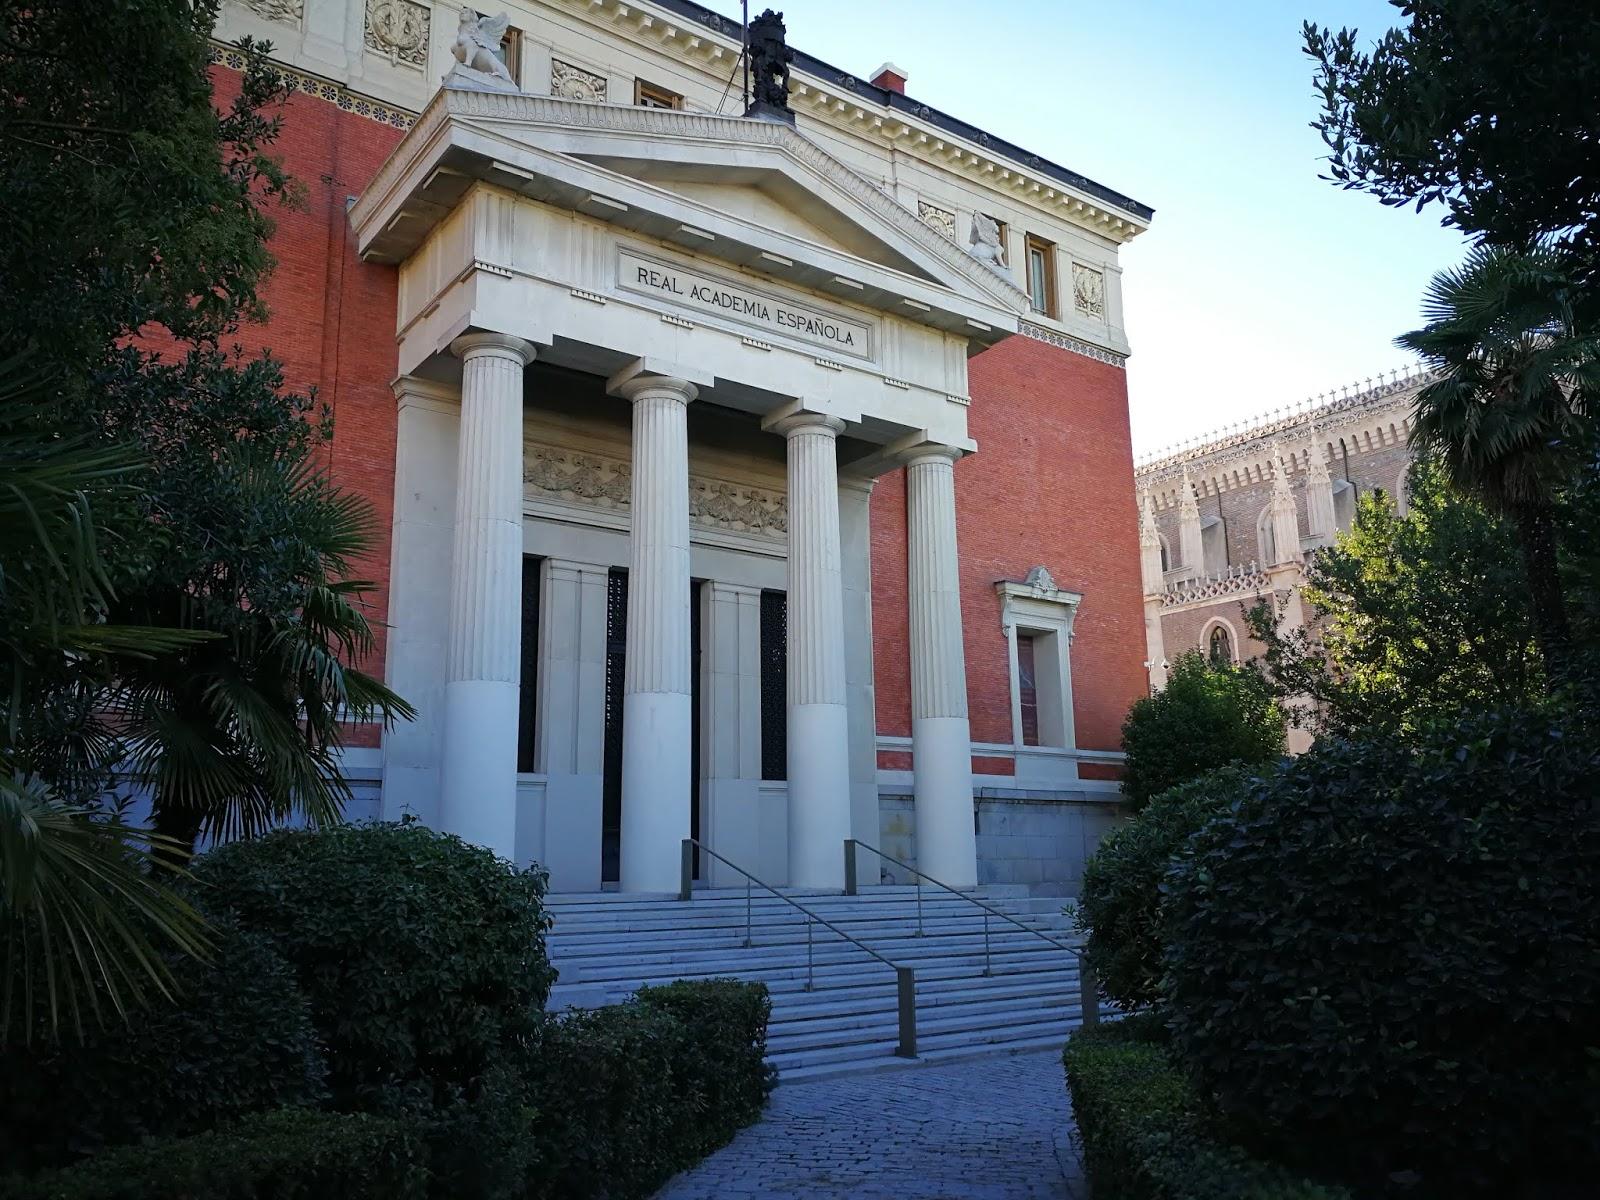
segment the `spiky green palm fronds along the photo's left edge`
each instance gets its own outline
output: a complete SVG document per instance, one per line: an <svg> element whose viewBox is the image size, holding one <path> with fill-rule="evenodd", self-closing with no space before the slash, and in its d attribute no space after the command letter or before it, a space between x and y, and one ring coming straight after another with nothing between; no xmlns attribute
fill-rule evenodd
<svg viewBox="0 0 1600 1200"><path fill-rule="evenodd" d="M112 656L170 653L200 635L101 619L109 590L90 493L136 464L42 432L27 419L38 387L0 363L0 1040L13 1022L26 1038L64 1022L82 1032L102 1005L126 1013L171 995L160 949L206 944L198 915L150 874L162 838L75 800L77 758L51 752L61 710L83 694L77 682ZM51 693L56 704L34 702Z"/></svg>

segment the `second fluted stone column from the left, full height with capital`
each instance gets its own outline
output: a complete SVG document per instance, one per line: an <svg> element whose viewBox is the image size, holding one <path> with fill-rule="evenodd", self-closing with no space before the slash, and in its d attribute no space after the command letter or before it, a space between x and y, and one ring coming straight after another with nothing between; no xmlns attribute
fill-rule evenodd
<svg viewBox="0 0 1600 1200"><path fill-rule="evenodd" d="M635 376L622 674L622 891L677 891L690 835L690 450L686 379Z"/></svg>

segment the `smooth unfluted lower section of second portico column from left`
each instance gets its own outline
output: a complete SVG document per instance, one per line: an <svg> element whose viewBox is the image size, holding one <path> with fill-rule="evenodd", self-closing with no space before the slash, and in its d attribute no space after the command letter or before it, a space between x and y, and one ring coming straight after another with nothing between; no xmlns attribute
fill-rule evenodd
<svg viewBox="0 0 1600 1200"><path fill-rule="evenodd" d="M622 696L622 891L678 890L690 835L690 698Z"/></svg>

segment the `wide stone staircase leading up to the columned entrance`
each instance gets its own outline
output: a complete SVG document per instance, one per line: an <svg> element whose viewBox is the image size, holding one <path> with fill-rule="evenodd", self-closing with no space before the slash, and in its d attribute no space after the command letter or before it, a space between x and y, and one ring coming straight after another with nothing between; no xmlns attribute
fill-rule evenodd
<svg viewBox="0 0 1600 1200"><path fill-rule="evenodd" d="M1077 955L990 915L986 958L984 910L958 896L923 888L918 923L912 886L784 894L915 971L918 1061L1054 1048L1080 1021ZM1077 941L1061 899L994 885L970 894L1056 942ZM691 901L550 896L549 949L560 971L550 1010L618 1003L672 979L757 979L773 997L768 1056L781 1080L907 1064L894 1053L891 968L760 891L749 898L746 946L746 904L744 888L698 890Z"/></svg>

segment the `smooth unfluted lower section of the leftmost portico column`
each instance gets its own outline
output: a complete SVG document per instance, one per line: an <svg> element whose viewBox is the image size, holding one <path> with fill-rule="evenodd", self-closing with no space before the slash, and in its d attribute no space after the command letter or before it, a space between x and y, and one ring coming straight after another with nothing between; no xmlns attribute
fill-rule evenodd
<svg viewBox="0 0 1600 1200"><path fill-rule="evenodd" d="M504 680L446 683L438 771L440 827L514 861L517 701L517 685Z"/></svg>

